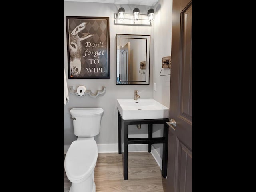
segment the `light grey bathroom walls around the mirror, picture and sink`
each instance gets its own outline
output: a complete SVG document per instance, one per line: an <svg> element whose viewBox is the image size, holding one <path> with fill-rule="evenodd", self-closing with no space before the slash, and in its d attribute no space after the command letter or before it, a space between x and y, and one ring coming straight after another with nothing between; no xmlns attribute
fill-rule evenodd
<svg viewBox="0 0 256 192"><path fill-rule="evenodd" d="M150 6L123 5L126 12L132 13L135 7L146 14ZM119 4L102 4L90 2L68 2L64 1L64 68L67 84L73 86L74 90L80 85L86 86L92 92L101 90L106 86L103 96L91 98L85 96L78 98L69 93L69 103L64 105L64 153L74 136L73 124L70 119L70 109L74 107L100 107L104 109L100 134L95 137L101 152L118 151L118 128L116 99L134 98L134 90L139 90L140 98L154 98L158 102L169 107L170 76L159 76L162 67L162 57L170 56L171 53L171 21L172 1L159 0L154 6L156 16L152 27L147 26L122 26L114 25L114 12L118 11ZM68 58L66 42L66 16L98 16L109 17L110 22L110 79L68 79ZM150 85L116 85L116 34L142 34L151 36L150 52ZM153 82L157 84L156 91L153 91ZM135 125L129 126L129 137L147 137L147 126L142 125L138 130ZM160 136L162 128L160 125L153 126L153 136ZM160 153L162 144L155 144ZM143 145L128 146L128 150L142 150ZM145 145L146 150L146 145Z"/></svg>

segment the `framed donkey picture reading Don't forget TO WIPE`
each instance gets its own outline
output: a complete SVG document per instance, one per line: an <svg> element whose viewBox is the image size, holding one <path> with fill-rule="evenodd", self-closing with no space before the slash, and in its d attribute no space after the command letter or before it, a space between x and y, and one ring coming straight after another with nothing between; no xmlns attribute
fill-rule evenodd
<svg viewBox="0 0 256 192"><path fill-rule="evenodd" d="M110 79L109 17L66 16L68 78Z"/></svg>

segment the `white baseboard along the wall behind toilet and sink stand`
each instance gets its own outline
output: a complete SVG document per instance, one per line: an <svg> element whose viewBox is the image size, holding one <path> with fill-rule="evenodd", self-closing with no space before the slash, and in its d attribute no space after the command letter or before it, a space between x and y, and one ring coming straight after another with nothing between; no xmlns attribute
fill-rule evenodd
<svg viewBox="0 0 256 192"><path fill-rule="evenodd" d="M70 145L64 145L64 154L67 153L68 148ZM98 146L98 153L118 153L118 144L97 144ZM123 151L123 150L122 150ZM128 152L142 152L142 151L148 151L148 144L134 144L134 145L128 145ZM151 146L151 154L156 160L156 163L162 170L162 158L158 154L157 150L154 148L154 146Z"/></svg>

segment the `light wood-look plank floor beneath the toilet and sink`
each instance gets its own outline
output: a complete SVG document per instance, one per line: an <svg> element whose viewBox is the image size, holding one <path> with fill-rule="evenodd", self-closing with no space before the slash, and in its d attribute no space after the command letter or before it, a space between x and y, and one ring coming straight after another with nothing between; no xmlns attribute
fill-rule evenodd
<svg viewBox="0 0 256 192"><path fill-rule="evenodd" d="M166 192L166 179L148 152L128 153L128 180L123 177L122 154L99 153L94 182L96 192ZM70 186L64 169L64 192Z"/></svg>

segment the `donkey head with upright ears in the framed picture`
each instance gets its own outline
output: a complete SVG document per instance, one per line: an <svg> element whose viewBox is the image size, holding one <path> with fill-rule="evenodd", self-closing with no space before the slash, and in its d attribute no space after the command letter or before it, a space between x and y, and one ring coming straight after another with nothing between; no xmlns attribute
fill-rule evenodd
<svg viewBox="0 0 256 192"><path fill-rule="evenodd" d="M78 76L81 72L81 41L85 40L94 34L82 33L85 29L86 22L83 22L76 26L74 30L69 34L69 47L70 47L70 72L71 76Z"/></svg>

